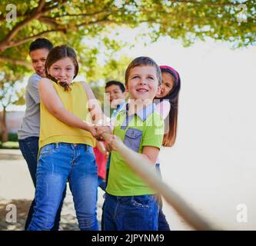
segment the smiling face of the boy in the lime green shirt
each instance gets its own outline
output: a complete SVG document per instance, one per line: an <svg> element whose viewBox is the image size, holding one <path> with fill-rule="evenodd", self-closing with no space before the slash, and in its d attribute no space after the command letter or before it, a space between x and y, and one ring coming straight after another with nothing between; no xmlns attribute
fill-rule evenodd
<svg viewBox="0 0 256 246"><path fill-rule="evenodd" d="M155 67L141 65L131 68L128 76L127 91L131 99L153 100L158 91L158 77Z"/></svg>

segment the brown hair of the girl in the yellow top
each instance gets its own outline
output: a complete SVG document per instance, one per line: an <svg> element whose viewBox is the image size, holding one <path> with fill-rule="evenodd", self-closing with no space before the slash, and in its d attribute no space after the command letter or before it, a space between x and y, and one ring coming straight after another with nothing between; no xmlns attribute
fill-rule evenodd
<svg viewBox="0 0 256 246"><path fill-rule="evenodd" d="M56 78L52 77L52 75L48 74L48 69L51 68L52 64L67 57L71 58L75 66L75 75L74 75L74 78L75 78L76 75L78 75L78 69L79 69L78 60L75 54L75 50L68 45L60 45L60 46L56 46L55 48L52 48L52 50L49 52L46 58L45 72L46 72L47 78L61 85L65 89L65 91L70 91L71 90L70 85L68 85L65 82L59 82Z"/></svg>

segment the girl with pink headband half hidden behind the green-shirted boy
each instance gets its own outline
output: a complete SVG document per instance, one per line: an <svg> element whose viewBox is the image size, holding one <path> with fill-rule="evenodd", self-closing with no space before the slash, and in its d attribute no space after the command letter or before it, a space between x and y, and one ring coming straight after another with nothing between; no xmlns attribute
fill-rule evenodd
<svg viewBox="0 0 256 246"><path fill-rule="evenodd" d="M160 99L157 108L161 111L165 118L165 135L163 146L171 147L175 144L177 133L177 119L178 119L178 94L181 88L181 78L174 68L169 66L160 66L162 84L161 90L155 98ZM160 163L156 164L158 172L161 175ZM158 215L158 231L170 231L168 221L166 221L165 214L162 211L161 196L158 198L160 205Z"/></svg>

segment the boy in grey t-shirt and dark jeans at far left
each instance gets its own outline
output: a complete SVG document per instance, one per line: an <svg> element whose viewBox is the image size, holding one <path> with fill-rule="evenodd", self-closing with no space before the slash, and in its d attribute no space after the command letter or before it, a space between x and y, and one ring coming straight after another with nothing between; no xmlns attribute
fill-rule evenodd
<svg viewBox="0 0 256 246"><path fill-rule="evenodd" d="M38 140L40 134L40 98L38 92L38 81L44 78L45 61L48 53L53 48L52 42L47 38L37 38L29 46L29 56L32 60L32 67L35 73L28 78L28 85L25 91L26 110L22 120L21 128L18 130L18 145L22 151L22 155L28 165L28 170L31 175L34 186L36 185L36 168L38 156ZM62 202L59 205L56 214L55 223L52 231L58 231L61 218L62 204L65 198L66 189L63 191ZM35 199L28 211L28 218L25 222L25 230L32 220L34 212Z"/></svg>

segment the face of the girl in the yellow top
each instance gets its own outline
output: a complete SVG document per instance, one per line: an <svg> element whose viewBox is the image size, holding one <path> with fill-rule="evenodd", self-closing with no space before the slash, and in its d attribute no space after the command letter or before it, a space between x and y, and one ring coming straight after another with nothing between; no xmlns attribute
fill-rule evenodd
<svg viewBox="0 0 256 246"><path fill-rule="evenodd" d="M68 57L58 60L48 69L48 74L58 81L70 85L75 76L74 62Z"/></svg>

